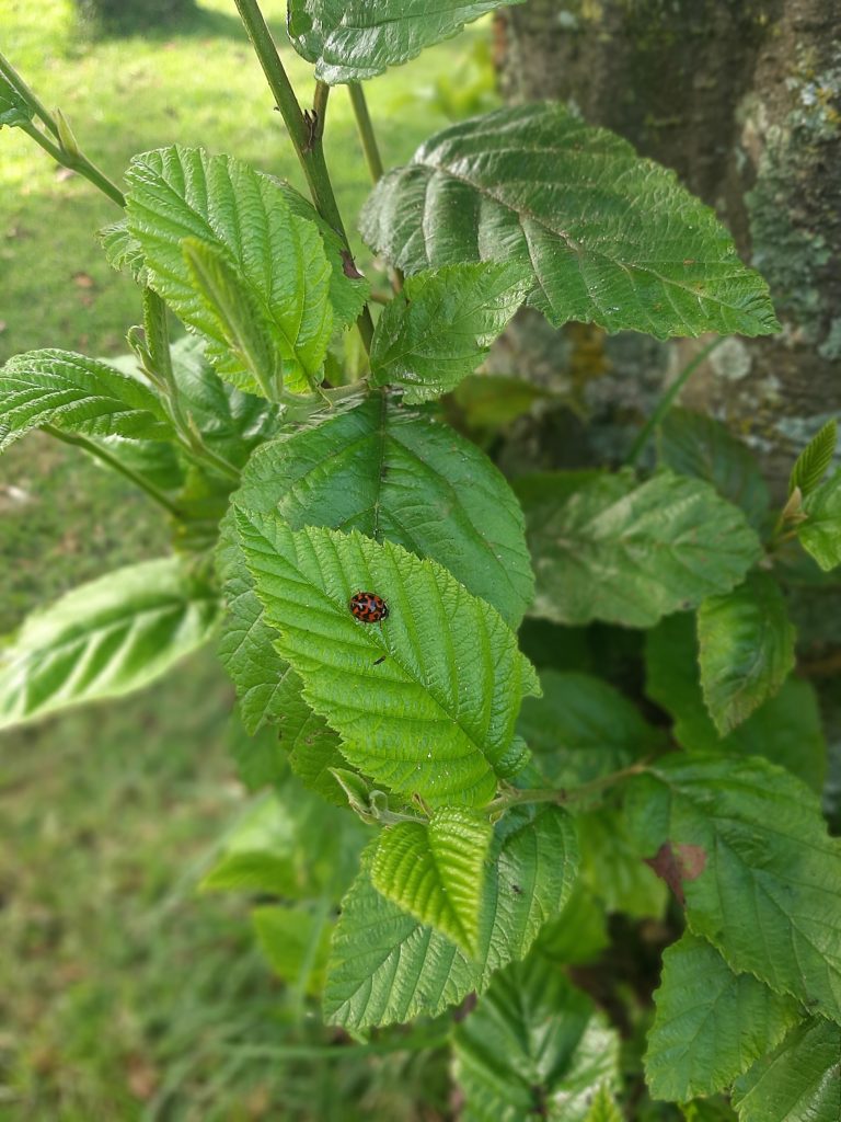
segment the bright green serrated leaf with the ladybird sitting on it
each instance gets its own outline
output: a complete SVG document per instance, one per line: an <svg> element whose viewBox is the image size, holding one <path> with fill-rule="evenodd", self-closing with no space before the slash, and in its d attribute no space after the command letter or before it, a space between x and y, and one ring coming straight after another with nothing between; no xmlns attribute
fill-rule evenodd
<svg viewBox="0 0 841 1122"><path fill-rule="evenodd" d="M538 689L499 614L391 542L293 532L277 515L238 511L237 521L276 649L346 758L436 804L488 802L510 774L520 700ZM385 598L381 624L350 613L360 589Z"/></svg>

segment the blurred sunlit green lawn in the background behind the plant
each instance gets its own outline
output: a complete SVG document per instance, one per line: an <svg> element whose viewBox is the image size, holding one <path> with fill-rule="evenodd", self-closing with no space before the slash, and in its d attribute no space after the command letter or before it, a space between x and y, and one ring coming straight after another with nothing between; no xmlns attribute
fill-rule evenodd
<svg viewBox="0 0 841 1122"><path fill-rule="evenodd" d="M283 44L283 0L264 8ZM133 153L178 140L299 185L232 0L133 24L96 36L71 0L0 0L0 49L118 182ZM477 25L370 83L387 164L496 103L488 56ZM285 61L308 96L306 65ZM368 182L342 90L327 151L350 227ZM0 361L39 347L126 351L138 292L94 237L115 217L25 136L0 134ZM36 434L0 461L0 634L166 549L157 511L77 450ZM333 1038L316 1015L294 1023L247 902L196 893L248 806L231 703L209 651L146 695L0 738L2 1122L442 1118L440 1055L375 1052L326 1072L318 1048Z"/></svg>

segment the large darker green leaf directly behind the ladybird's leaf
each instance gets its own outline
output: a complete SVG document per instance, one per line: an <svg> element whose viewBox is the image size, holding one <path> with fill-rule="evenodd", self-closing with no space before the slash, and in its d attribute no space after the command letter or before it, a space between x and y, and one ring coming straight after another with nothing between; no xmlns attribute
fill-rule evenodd
<svg viewBox="0 0 841 1122"><path fill-rule="evenodd" d="M453 430L375 394L346 413L314 419L260 449L234 503L278 511L293 530L355 527L446 565L516 626L532 598L523 515L503 477ZM220 577L228 613L220 654L246 726L283 712L284 663L244 567L223 525Z"/></svg>

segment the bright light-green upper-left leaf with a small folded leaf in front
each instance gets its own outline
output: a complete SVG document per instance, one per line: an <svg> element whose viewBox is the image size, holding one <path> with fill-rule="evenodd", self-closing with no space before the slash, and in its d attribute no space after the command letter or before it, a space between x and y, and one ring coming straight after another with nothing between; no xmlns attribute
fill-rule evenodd
<svg viewBox="0 0 841 1122"><path fill-rule="evenodd" d="M271 355L287 387L321 380L333 330L333 275L315 223L294 214L277 184L230 156L204 149L159 148L136 156L127 173L129 233L140 245L149 283L184 322L209 340L220 375L260 392L230 353L219 318L196 292L182 251L185 238L221 254L267 325Z"/></svg>

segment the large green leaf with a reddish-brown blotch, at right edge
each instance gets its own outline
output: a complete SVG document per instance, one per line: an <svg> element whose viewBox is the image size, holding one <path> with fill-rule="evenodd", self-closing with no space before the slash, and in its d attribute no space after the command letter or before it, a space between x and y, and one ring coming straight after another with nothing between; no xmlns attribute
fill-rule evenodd
<svg viewBox="0 0 841 1122"><path fill-rule="evenodd" d="M841 1020L841 843L808 788L758 757L678 756L626 798L691 930L736 972Z"/></svg>

